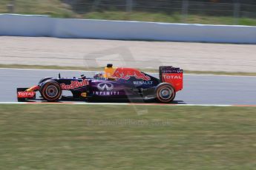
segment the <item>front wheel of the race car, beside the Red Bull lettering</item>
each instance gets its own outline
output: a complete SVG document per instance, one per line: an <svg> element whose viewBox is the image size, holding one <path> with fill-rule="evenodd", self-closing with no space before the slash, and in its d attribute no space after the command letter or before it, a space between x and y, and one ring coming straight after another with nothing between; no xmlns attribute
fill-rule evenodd
<svg viewBox="0 0 256 170"><path fill-rule="evenodd" d="M42 98L45 101L58 101L62 96L62 89L56 81L47 81L40 88Z"/></svg>

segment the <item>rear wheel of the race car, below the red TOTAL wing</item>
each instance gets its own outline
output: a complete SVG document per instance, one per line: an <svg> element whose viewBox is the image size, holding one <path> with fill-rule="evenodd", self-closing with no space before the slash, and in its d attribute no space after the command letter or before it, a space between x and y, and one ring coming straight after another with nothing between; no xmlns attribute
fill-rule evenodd
<svg viewBox="0 0 256 170"><path fill-rule="evenodd" d="M170 103L174 101L176 92L171 84L160 84L156 89L156 99L160 103Z"/></svg>

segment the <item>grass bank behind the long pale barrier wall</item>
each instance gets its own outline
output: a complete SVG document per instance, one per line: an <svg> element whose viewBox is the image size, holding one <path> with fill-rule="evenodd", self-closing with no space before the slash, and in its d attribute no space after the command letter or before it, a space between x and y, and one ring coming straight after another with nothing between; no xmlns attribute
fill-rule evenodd
<svg viewBox="0 0 256 170"><path fill-rule="evenodd" d="M10 0L0 1L0 13L8 13L7 4ZM160 12L142 12L133 11L126 13L123 11L112 10L102 12L88 12L84 14L76 13L70 5L62 3L60 0L16 0L14 13L20 14L40 14L49 15L59 18L90 18L90 19L108 19L108 20L132 20L132 21L157 21L171 23L191 23L191 24L234 24L232 16L205 16L203 14L188 15L186 21L180 13ZM256 25L256 18L239 18L237 24L241 25Z"/></svg>

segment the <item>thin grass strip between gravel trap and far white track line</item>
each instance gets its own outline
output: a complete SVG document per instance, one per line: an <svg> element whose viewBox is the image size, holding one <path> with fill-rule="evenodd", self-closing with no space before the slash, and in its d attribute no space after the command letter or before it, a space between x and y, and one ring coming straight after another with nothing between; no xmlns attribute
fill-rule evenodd
<svg viewBox="0 0 256 170"><path fill-rule="evenodd" d="M15 69L69 69L69 70L86 70L86 71L103 71L103 67L60 67L60 66L40 66L40 65L21 65L21 64L0 64L0 68ZM158 69L140 69L144 72L159 72ZM185 70L186 74L208 74L208 75L245 75L256 76L256 72L207 72L207 71L191 71Z"/></svg>

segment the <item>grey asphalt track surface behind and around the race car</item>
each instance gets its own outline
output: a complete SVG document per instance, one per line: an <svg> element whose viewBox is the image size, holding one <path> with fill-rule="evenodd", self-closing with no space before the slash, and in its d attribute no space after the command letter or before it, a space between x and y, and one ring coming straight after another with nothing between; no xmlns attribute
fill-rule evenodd
<svg viewBox="0 0 256 170"><path fill-rule="evenodd" d="M16 88L36 85L41 78L72 78L93 72L0 69L0 102L16 102ZM157 74L154 74L157 76ZM226 75L184 75L183 91L177 92L174 103L213 105L256 105L256 77Z"/></svg>

